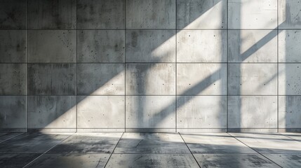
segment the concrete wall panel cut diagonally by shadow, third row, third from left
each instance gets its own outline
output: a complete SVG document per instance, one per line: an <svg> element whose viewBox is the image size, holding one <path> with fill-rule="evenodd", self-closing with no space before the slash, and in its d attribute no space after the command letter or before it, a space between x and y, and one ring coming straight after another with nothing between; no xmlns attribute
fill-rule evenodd
<svg viewBox="0 0 301 168"><path fill-rule="evenodd" d="M78 64L77 94L124 94L124 64Z"/></svg>

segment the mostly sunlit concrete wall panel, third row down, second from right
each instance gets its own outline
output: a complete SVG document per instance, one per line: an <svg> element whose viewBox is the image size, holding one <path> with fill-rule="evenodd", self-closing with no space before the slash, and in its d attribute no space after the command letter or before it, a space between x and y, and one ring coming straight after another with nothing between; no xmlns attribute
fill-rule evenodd
<svg viewBox="0 0 301 168"><path fill-rule="evenodd" d="M277 64L229 64L229 95L277 95Z"/></svg>

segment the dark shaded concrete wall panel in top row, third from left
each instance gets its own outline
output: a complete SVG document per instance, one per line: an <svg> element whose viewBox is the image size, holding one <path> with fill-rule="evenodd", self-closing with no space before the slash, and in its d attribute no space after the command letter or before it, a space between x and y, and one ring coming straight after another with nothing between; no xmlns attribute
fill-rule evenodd
<svg viewBox="0 0 301 168"><path fill-rule="evenodd" d="M77 28L124 29L124 3L125 0L78 0Z"/></svg>

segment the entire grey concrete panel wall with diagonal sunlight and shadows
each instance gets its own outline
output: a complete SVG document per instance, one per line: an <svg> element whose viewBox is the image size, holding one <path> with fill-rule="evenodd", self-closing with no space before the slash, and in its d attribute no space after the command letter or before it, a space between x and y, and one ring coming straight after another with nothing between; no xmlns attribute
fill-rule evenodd
<svg viewBox="0 0 301 168"><path fill-rule="evenodd" d="M300 131L299 0L2 0L0 130Z"/></svg>

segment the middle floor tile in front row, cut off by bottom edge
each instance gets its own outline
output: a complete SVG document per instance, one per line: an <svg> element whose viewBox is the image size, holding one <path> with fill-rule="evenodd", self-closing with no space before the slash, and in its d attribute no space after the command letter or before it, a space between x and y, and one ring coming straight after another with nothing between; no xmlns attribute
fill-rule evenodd
<svg viewBox="0 0 301 168"><path fill-rule="evenodd" d="M191 154L113 154L107 167L199 167Z"/></svg>

